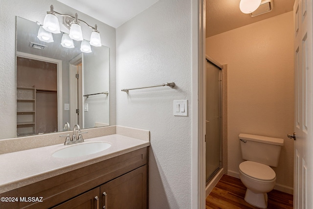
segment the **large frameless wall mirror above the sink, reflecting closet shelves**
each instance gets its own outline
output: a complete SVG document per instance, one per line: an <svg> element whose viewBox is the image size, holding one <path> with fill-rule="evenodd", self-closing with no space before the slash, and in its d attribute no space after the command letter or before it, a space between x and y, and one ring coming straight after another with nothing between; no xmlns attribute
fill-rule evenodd
<svg viewBox="0 0 313 209"><path fill-rule="evenodd" d="M39 28L17 17L17 137L108 126L109 48L65 48L62 32L46 43Z"/></svg>

